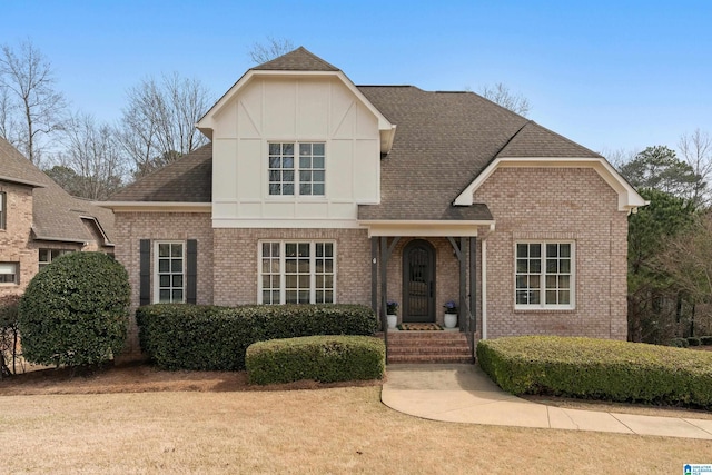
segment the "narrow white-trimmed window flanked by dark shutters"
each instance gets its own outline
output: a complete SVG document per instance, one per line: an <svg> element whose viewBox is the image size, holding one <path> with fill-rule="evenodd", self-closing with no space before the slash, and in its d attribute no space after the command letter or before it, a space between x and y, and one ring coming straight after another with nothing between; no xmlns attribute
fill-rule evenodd
<svg viewBox="0 0 712 475"><path fill-rule="evenodd" d="M160 304L185 303L186 244L157 241L155 246L154 300Z"/></svg>

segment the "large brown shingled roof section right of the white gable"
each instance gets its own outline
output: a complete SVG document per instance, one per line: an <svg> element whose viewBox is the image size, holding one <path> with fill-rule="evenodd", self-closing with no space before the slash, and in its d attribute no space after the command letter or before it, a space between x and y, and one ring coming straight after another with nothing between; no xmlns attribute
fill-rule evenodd
<svg viewBox="0 0 712 475"><path fill-rule="evenodd" d="M359 219L492 219L484 205L452 204L495 157L599 157L473 92L359 89L397 125L382 160L380 204L360 206Z"/></svg>

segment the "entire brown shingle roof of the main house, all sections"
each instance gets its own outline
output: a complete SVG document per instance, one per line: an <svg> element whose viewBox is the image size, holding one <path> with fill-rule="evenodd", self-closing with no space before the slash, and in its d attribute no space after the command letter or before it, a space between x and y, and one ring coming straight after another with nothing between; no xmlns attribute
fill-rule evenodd
<svg viewBox="0 0 712 475"><path fill-rule="evenodd" d="M254 69L338 71L301 47ZM452 204L496 157L600 157L473 92L358 89L396 125L393 148L382 159L382 202L359 206L363 220L488 220L486 204ZM111 200L209 202L210 188L211 148L206 146Z"/></svg>

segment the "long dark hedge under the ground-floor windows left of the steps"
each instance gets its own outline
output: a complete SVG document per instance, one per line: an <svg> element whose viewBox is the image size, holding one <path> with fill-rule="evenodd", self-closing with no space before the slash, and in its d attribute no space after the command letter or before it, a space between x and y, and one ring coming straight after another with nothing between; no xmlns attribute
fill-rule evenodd
<svg viewBox="0 0 712 475"><path fill-rule="evenodd" d="M363 305L156 304L138 308L141 349L161 368L245 369L256 342L313 335L373 335L374 311Z"/></svg>

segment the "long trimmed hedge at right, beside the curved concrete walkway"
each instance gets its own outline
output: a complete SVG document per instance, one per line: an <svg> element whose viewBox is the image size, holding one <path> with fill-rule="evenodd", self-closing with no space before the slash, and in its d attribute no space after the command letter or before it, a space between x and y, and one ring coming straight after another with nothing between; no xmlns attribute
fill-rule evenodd
<svg viewBox="0 0 712 475"><path fill-rule="evenodd" d="M512 394L712 408L712 353L593 338L482 340L483 370Z"/></svg>

